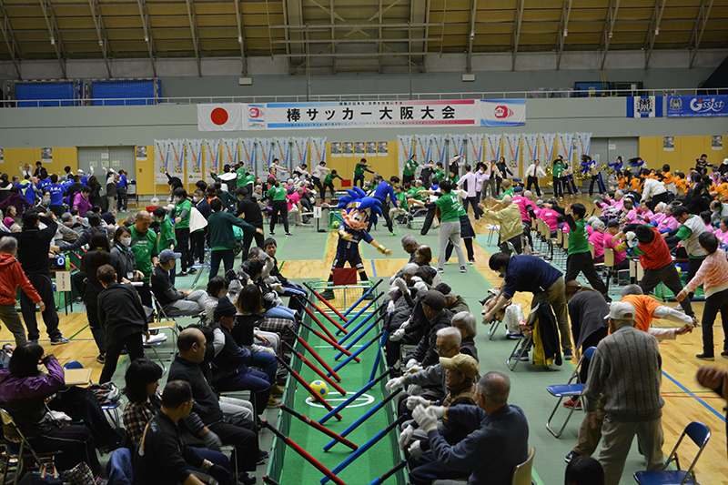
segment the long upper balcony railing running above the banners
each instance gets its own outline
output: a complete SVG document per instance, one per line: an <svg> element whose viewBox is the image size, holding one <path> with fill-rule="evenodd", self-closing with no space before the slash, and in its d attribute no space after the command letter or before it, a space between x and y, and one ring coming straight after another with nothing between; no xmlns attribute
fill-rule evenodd
<svg viewBox="0 0 728 485"><path fill-rule="evenodd" d="M726 90L721 89L725 92ZM595 89L575 90L571 88L541 88L534 91L494 91L470 93L399 93L361 95L301 95L301 96L183 96L183 97L132 97L110 99L48 99L48 100L5 100L5 107L49 107L49 106L148 106L148 105L199 105L217 103L318 103L357 101L405 101L434 99L544 99L544 98L594 98L615 96L710 96L718 94L717 89Z"/></svg>

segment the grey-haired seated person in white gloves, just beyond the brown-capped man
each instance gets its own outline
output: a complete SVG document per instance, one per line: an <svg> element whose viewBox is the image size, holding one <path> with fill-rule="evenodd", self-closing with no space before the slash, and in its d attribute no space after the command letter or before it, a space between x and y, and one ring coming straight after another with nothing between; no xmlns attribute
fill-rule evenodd
<svg viewBox="0 0 728 485"><path fill-rule="evenodd" d="M407 388L416 386L417 388L409 389L409 392L402 393L399 396L399 415L408 412L405 401L410 396L419 396L422 399L436 401L442 399L447 394L447 386L445 383L445 369L440 366L440 358L454 357L460 354L460 340L462 339L460 330L457 328L447 327L440 328L437 332L437 355L438 360L435 364L425 367L412 366L407 374L399 378L389 379L385 388L389 391L399 387Z"/></svg>

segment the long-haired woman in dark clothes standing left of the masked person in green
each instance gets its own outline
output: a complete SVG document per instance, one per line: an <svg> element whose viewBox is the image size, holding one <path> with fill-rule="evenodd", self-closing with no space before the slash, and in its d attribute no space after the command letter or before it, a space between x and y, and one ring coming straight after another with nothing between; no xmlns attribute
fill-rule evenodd
<svg viewBox="0 0 728 485"><path fill-rule="evenodd" d="M106 233L96 232L91 237L88 247L90 250L81 258L81 272L86 274L81 298L83 298L86 305L88 327L91 328L91 333L94 335L96 347L98 348L96 361L103 364L106 361L106 336L98 319L98 294L104 290L104 287L96 277L96 269L111 264L111 248L109 248Z"/></svg>

